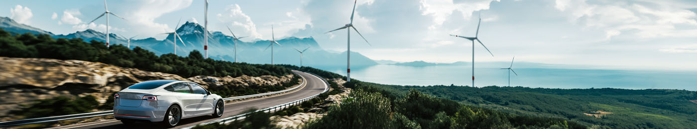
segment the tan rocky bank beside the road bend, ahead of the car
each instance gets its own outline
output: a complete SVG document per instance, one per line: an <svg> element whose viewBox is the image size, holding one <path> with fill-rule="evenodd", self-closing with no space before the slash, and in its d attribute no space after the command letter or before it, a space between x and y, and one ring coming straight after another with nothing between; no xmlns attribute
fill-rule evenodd
<svg viewBox="0 0 697 129"><path fill-rule="evenodd" d="M199 83L205 88L208 87L223 87L223 86L233 86L233 87L250 87L250 86L263 86L263 85L282 85L283 83L288 83L293 79L293 74L286 76L276 77L276 76L239 76L233 78L231 76L225 77L213 77L213 76L194 76L187 78L194 83Z"/></svg>

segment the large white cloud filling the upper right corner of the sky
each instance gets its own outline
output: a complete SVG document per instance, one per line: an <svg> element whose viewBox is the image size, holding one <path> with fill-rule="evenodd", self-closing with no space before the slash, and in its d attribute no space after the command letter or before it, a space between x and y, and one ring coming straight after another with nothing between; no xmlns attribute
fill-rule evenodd
<svg viewBox="0 0 697 129"><path fill-rule="evenodd" d="M695 12L684 8L673 8L665 4L659 1L557 0L556 8L561 12L570 13L567 16L574 24L605 31L606 38L619 35L626 35L627 38L694 37L697 35L697 15Z"/></svg>

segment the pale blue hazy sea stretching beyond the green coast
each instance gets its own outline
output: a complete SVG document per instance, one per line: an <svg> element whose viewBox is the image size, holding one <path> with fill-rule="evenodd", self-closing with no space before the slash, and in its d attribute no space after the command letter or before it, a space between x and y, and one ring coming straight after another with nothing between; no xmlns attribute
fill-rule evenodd
<svg viewBox="0 0 697 129"><path fill-rule="evenodd" d="M345 67L320 67L346 76ZM687 89L697 91L694 71L635 71L607 69L540 69L514 68L511 85L544 88L621 88L621 89ZM411 67L375 65L351 68L351 78L389 85L471 85L469 66ZM475 68L475 86L507 86L508 71L497 68Z"/></svg>

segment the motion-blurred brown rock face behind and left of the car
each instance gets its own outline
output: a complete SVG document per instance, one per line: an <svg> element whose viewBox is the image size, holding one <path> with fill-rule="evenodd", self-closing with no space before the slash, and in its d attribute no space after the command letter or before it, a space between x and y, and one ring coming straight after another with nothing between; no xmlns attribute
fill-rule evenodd
<svg viewBox="0 0 697 129"><path fill-rule="evenodd" d="M0 119L9 119L8 112L37 99L93 95L103 102L113 92L145 80L187 80L99 62L43 58L0 57L0 71Z"/></svg>

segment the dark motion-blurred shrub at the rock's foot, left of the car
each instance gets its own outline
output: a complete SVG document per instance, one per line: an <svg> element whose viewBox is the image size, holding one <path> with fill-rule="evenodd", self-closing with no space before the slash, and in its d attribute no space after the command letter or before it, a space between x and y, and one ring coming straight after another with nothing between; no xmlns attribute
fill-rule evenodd
<svg viewBox="0 0 697 129"><path fill-rule="evenodd" d="M113 105L113 104L112 104ZM99 106L94 96L71 98L57 96L54 98L40 99L31 105L24 105L22 110L10 112L24 116L24 119L46 117L47 115L66 115L91 112Z"/></svg>

